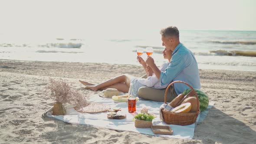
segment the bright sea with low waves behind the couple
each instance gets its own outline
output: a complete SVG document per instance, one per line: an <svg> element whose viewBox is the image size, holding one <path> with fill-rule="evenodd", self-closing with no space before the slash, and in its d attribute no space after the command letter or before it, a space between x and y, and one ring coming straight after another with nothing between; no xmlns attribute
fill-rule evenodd
<svg viewBox="0 0 256 144"><path fill-rule="evenodd" d="M140 65L136 49L144 49L142 58L146 59L145 49L152 47L154 62L158 66L167 62L163 59L159 29L103 33L81 32L72 36L0 33L0 59ZM181 29L180 42L194 53L199 69L256 71L256 31Z"/></svg>

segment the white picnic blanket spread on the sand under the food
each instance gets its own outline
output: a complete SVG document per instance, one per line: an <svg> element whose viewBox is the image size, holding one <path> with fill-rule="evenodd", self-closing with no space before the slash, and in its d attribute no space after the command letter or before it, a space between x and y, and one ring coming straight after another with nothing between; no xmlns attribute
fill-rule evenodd
<svg viewBox="0 0 256 144"><path fill-rule="evenodd" d="M112 108L121 108L122 111L126 112L126 118L121 120L108 119L107 112L101 112L96 114L80 113L75 111L74 108L70 107L66 109L66 115L52 115L51 111L46 111L45 115L49 118L54 118L56 120L64 121L71 124L93 125L96 127L109 128L113 130L134 131L142 134L150 134L168 138L192 139L194 137L195 123L186 126L180 126L166 124L164 121L161 121L159 119L159 108L163 104L163 102L139 100L136 102L136 111L139 113L142 108L147 108L149 113L154 113L155 115L157 115L157 118L154 118L153 120L153 125L168 125L173 130L173 135L154 134L151 128L136 128L133 121L134 115L136 114L128 113L127 102L116 103L111 98L102 98L98 95L93 95L92 97L90 97L89 101L104 103L110 105ZM203 121L213 104L214 103L210 103L207 111L203 111L203 113L200 113L197 118L197 122Z"/></svg>

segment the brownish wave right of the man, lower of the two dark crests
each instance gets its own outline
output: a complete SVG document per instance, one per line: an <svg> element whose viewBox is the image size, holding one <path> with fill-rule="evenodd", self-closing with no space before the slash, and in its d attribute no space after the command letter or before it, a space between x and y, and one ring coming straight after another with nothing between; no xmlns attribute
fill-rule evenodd
<svg viewBox="0 0 256 144"><path fill-rule="evenodd" d="M219 56L252 56L252 57L256 57L256 51L216 50L216 51L210 51L210 52L215 53L216 55L219 55Z"/></svg>

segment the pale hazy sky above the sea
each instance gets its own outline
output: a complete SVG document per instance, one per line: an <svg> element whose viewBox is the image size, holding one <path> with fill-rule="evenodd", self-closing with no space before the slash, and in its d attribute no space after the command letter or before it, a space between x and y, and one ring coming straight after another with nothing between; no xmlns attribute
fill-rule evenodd
<svg viewBox="0 0 256 144"><path fill-rule="evenodd" d="M256 0L1 0L1 35L256 30ZM107 35L107 34L106 34Z"/></svg>

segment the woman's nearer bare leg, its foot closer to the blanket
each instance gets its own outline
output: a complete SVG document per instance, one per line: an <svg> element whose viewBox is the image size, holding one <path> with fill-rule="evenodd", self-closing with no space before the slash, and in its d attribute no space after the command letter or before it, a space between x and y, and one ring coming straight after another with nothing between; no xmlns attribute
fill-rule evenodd
<svg viewBox="0 0 256 144"><path fill-rule="evenodd" d="M98 91L98 89L101 89L101 88L105 88L105 87L108 87L108 86L111 86L111 85L115 85L115 84L118 84L118 83L124 83L126 86L128 86L128 88L130 87L130 82L131 82L131 79L133 78L132 75L128 75L128 74L124 74L124 75L119 75L113 79L109 79L105 82L102 82L98 85L88 85L86 86L87 89L91 89L93 91ZM125 85L122 85L122 86L125 86ZM121 86L121 85L120 85Z"/></svg>

